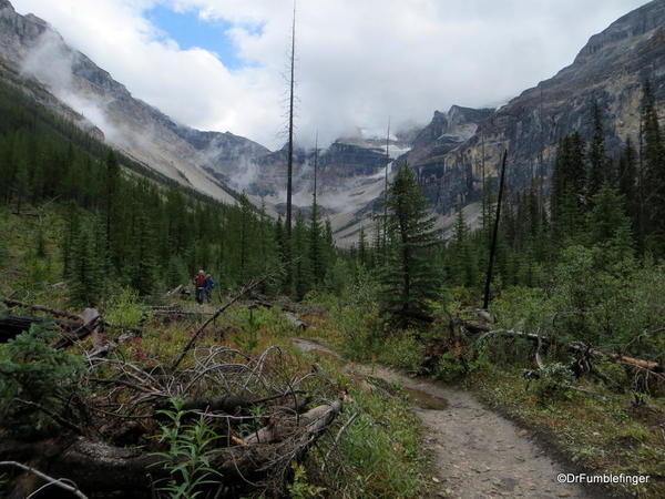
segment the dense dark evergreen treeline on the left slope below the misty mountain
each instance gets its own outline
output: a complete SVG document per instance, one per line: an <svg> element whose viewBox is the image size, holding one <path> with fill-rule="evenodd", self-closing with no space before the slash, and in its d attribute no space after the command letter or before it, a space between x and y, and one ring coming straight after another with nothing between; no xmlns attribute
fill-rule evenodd
<svg viewBox="0 0 665 499"><path fill-rule="evenodd" d="M0 204L19 215L44 203L61 212L62 277L76 304L95 304L122 286L163 292L198 268L223 288L285 265L284 277L262 291L303 297L326 285L336 255L329 223L316 210L310 220L296 218L288 242L282 222L245 196L225 205L145 175L19 90L0 86ZM44 256L43 234L34 245Z"/></svg>

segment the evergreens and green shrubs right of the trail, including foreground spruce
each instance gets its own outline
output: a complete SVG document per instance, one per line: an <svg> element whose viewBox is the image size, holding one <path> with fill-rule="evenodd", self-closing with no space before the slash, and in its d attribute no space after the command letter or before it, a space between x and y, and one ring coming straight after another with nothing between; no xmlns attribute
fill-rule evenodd
<svg viewBox="0 0 665 499"><path fill-rule="evenodd" d="M618 157L607 155L600 106L591 109L593 133L561 140L551 182L509 190L491 307L510 309L515 323L531 322L533 329L654 357L665 352L658 333L665 289L657 284L665 278L665 145L653 92L645 84L637 146L626 140ZM471 228L460 211L446 240L408 166L387 203L372 241L361 230L351 251L357 268L379 277L382 310L405 327L431 322L451 296L478 307L497 210L492 183L485 183L480 227Z"/></svg>

